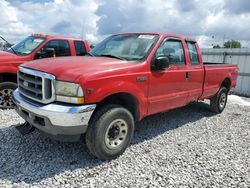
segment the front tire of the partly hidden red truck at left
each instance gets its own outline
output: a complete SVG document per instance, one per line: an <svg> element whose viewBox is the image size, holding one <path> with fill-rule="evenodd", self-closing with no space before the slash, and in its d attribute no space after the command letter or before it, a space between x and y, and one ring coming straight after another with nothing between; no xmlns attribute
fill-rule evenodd
<svg viewBox="0 0 250 188"><path fill-rule="evenodd" d="M15 105L12 101L12 93L17 88L17 84L14 82L0 83L0 108L10 109Z"/></svg>

